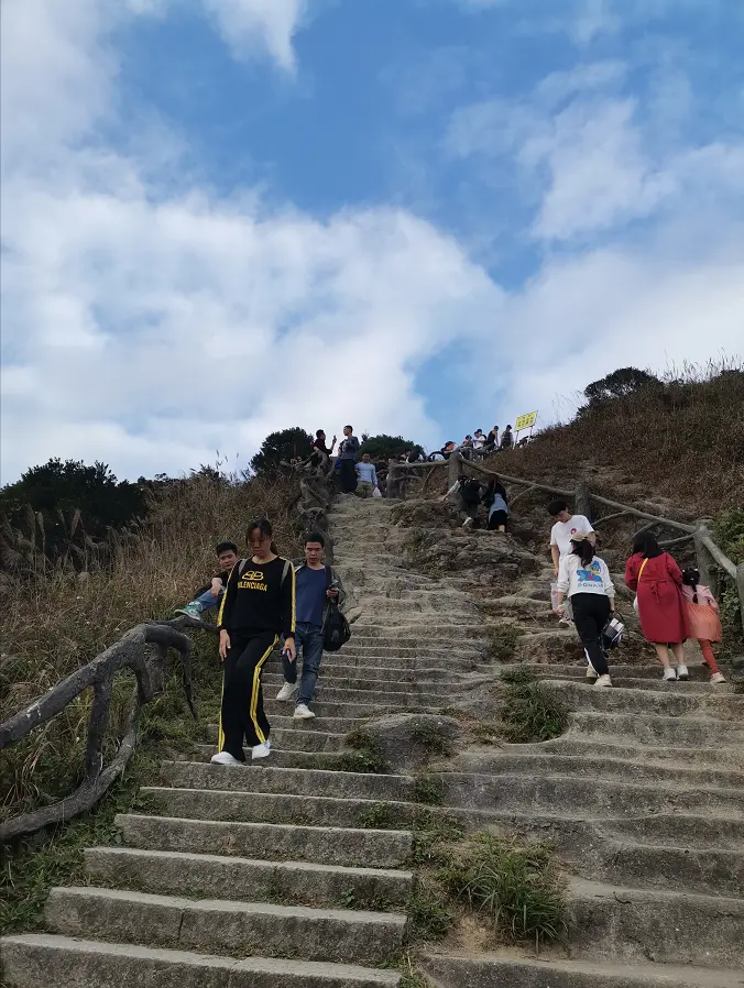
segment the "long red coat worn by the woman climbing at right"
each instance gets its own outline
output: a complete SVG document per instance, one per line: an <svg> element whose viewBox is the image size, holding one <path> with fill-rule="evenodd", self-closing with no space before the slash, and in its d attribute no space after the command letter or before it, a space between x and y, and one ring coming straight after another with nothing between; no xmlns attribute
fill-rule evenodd
<svg viewBox="0 0 744 988"><path fill-rule="evenodd" d="M631 556L625 566L625 582L638 594L641 630L647 641L675 644L689 637L682 571L668 552L646 560L641 582L638 573L644 558Z"/></svg>

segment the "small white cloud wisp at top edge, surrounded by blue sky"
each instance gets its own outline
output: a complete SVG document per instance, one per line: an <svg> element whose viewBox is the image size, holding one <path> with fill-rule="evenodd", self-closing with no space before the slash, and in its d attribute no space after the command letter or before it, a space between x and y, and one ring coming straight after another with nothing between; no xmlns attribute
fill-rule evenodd
<svg viewBox="0 0 744 988"><path fill-rule="evenodd" d="M201 0L236 58L265 48L286 72L295 70L292 39L307 12L306 0Z"/></svg>

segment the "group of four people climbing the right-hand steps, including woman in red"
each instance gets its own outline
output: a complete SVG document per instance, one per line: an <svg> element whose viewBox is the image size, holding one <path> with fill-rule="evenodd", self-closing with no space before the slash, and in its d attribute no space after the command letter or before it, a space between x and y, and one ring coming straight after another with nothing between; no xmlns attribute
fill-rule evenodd
<svg viewBox="0 0 744 988"><path fill-rule="evenodd" d="M595 552L597 535L584 515L573 515L565 501L548 505L556 519L550 553L556 583L554 610L564 625L573 622L584 647L587 677L599 687L612 685L605 641L615 615L615 588L606 563ZM635 591L641 630L656 649L665 680L686 680L685 641L697 638L712 683L725 678L712 643L722 638L715 597L700 583L700 573L681 570L650 531L638 533L625 566L625 583ZM672 665L672 658L676 666Z"/></svg>

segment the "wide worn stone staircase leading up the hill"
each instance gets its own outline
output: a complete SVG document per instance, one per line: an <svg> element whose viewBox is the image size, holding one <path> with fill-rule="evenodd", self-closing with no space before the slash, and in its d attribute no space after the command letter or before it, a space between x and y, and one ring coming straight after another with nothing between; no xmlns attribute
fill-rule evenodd
<svg viewBox="0 0 744 988"><path fill-rule="evenodd" d="M12 988L401 984L413 836L368 824L381 802L406 819L415 779L340 771L338 756L372 714L451 709L499 670L467 580L409 571L392 507L341 497L335 508L338 568L362 614L349 646L324 658L317 720L292 720L269 666L270 759L212 766L204 746L200 760L164 764L145 790L156 810L121 816L120 846L87 850L89 885L53 890L48 932L6 937ZM503 599L533 661L539 636L560 634L545 619L546 579L518 579ZM431 984L744 988L744 698L700 668L664 684L650 662L615 666L615 688L594 690L578 643L576 661L532 668L573 711L570 731L461 751L441 766L441 809L556 842L568 940L539 959L448 942L424 957Z"/></svg>

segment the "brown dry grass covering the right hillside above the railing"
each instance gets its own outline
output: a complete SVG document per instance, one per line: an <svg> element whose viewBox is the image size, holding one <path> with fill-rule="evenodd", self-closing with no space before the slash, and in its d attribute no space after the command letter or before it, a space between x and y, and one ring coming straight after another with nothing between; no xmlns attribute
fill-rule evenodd
<svg viewBox="0 0 744 988"><path fill-rule="evenodd" d="M691 515L741 506L744 487L741 362L687 366L658 386L581 413L486 465L570 487L589 468L592 488L619 500L623 485L669 498Z"/></svg>

